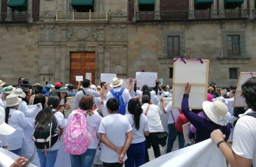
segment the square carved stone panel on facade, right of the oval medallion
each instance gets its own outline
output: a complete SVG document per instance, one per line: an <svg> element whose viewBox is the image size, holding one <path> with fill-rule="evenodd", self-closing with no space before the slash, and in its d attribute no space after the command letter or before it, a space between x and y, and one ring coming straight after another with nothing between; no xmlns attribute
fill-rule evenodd
<svg viewBox="0 0 256 167"><path fill-rule="evenodd" d="M111 29L111 41L126 41L127 40L127 27L126 24L112 24Z"/></svg>

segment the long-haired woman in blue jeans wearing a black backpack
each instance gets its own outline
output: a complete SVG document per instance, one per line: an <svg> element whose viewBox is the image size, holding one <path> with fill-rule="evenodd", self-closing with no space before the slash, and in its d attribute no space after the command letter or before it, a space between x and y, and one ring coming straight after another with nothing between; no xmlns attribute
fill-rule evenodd
<svg viewBox="0 0 256 167"><path fill-rule="evenodd" d="M36 129L44 129L48 119L52 117L52 112L55 112L54 117L56 119L57 127L60 129L59 137L63 134L63 129L66 126L64 116L61 112L58 112L56 108L60 103L60 98L56 95L52 95L48 99L49 107L41 110L35 117L35 126ZM57 111L57 112L56 112ZM38 123L38 124L37 124ZM53 167L57 158L59 149L59 140L50 148L45 150L36 149L41 167Z"/></svg>

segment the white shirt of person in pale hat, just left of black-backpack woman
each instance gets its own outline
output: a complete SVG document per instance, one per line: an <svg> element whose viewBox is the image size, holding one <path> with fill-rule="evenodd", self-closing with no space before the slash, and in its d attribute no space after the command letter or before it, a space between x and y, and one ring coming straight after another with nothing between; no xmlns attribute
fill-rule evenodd
<svg viewBox="0 0 256 167"><path fill-rule="evenodd" d="M42 110L42 105L41 103L39 104L40 107L37 107L36 105L28 106L27 103L22 100L20 101L17 110L23 112L26 117L35 118L39 111Z"/></svg>

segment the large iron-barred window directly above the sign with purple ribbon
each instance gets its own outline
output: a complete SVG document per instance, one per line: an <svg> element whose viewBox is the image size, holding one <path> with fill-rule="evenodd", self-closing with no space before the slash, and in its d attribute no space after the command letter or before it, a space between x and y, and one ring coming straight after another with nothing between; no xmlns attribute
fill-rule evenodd
<svg viewBox="0 0 256 167"><path fill-rule="evenodd" d="M163 50L167 57L179 57L184 53L184 32L163 31Z"/></svg>

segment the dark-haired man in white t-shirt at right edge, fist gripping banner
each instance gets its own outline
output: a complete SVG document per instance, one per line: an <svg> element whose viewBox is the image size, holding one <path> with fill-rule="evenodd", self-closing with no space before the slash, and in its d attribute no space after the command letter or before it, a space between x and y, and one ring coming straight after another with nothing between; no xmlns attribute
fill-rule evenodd
<svg viewBox="0 0 256 167"><path fill-rule="evenodd" d="M211 139L216 142L232 167L251 167L256 166L256 77L246 80L241 88L241 96L252 112L238 119L232 148L223 140L226 136L220 130L213 131Z"/></svg>

